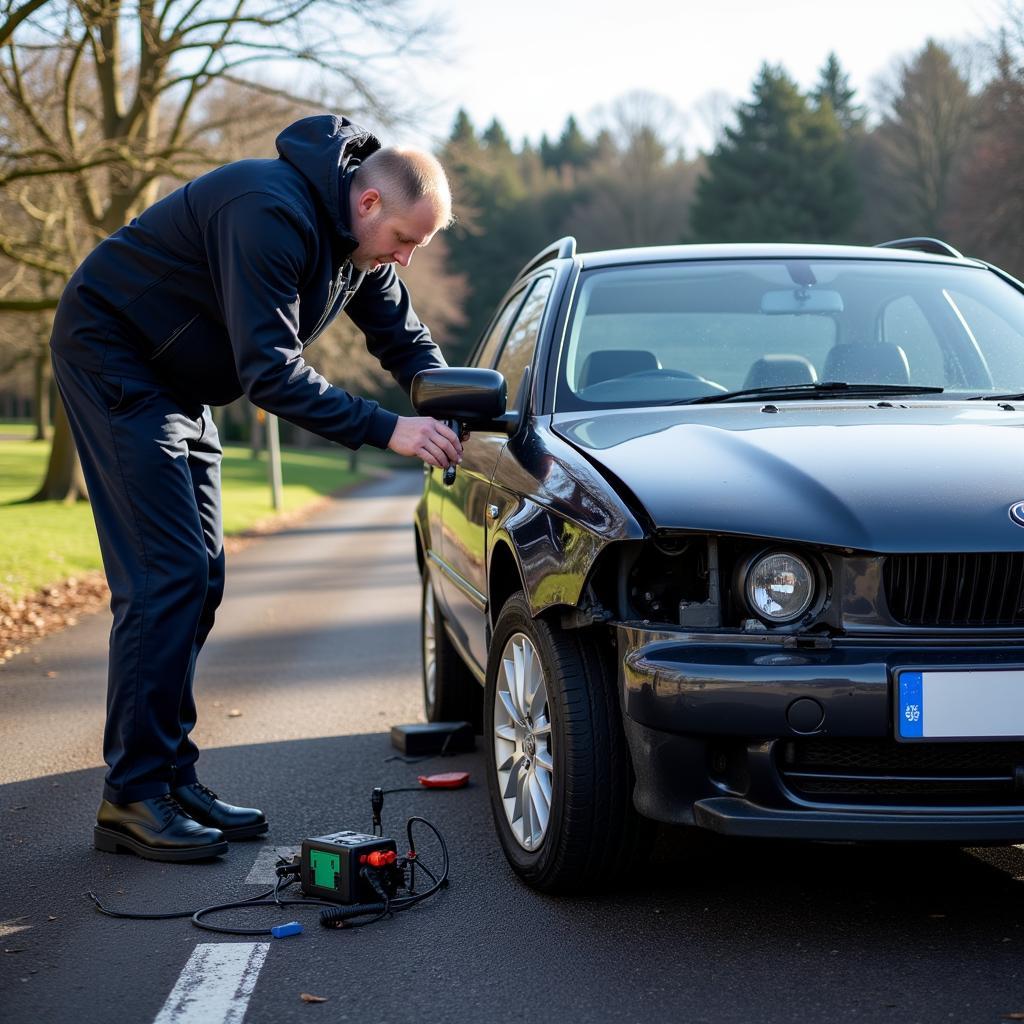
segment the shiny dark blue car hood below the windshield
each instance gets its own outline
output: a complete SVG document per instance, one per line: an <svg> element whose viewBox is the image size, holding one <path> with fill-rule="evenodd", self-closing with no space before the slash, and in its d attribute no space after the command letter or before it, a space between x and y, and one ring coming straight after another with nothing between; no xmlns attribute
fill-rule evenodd
<svg viewBox="0 0 1024 1024"><path fill-rule="evenodd" d="M772 412L772 410L776 410ZM1021 551L1024 412L991 402L556 414L663 529L881 553Z"/></svg>

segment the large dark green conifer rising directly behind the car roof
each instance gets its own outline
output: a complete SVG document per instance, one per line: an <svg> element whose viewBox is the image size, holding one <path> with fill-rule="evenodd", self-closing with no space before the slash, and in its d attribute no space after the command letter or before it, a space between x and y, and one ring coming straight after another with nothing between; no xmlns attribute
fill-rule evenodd
<svg viewBox="0 0 1024 1024"><path fill-rule="evenodd" d="M690 222L717 242L848 237L860 196L830 103L815 109L781 68L762 67L753 101L708 158Z"/></svg>

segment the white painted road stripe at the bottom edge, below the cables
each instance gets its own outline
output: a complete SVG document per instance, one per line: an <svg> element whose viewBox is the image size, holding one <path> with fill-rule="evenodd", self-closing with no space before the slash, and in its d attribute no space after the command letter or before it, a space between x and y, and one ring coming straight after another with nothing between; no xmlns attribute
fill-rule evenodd
<svg viewBox="0 0 1024 1024"><path fill-rule="evenodd" d="M154 1024L242 1024L269 942L203 942Z"/></svg>

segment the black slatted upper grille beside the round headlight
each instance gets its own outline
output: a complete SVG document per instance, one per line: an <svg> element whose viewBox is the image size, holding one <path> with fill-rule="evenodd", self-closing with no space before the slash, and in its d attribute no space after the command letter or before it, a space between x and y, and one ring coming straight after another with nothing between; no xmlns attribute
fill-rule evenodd
<svg viewBox="0 0 1024 1024"><path fill-rule="evenodd" d="M889 611L904 626L1024 625L1024 552L890 555L882 579Z"/></svg>

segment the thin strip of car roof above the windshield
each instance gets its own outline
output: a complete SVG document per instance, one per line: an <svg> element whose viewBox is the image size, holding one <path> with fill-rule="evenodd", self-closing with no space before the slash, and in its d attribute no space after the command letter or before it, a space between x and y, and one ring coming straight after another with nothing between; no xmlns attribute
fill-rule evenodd
<svg viewBox="0 0 1024 1024"><path fill-rule="evenodd" d="M580 253L577 260L586 269L631 263L665 263L715 259L869 259L899 263L942 263L947 266L984 267L976 260L940 256L910 249L881 246L802 245L795 243L729 243L717 245L648 246Z"/></svg>

